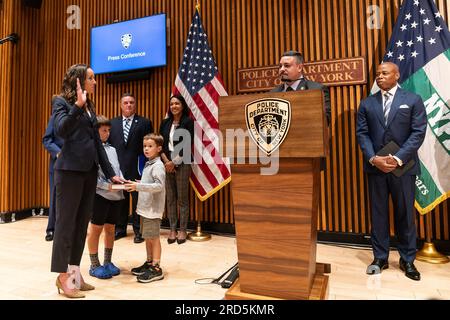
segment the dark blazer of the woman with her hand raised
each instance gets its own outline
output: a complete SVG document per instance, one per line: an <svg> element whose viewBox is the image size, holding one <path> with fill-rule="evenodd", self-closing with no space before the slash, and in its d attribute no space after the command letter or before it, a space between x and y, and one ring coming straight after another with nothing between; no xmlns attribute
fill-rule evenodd
<svg viewBox="0 0 450 320"><path fill-rule="evenodd" d="M115 176L100 141L96 115L56 97L52 102L55 133L64 139L61 153L56 159L55 170L87 172L100 164L105 176Z"/></svg>

